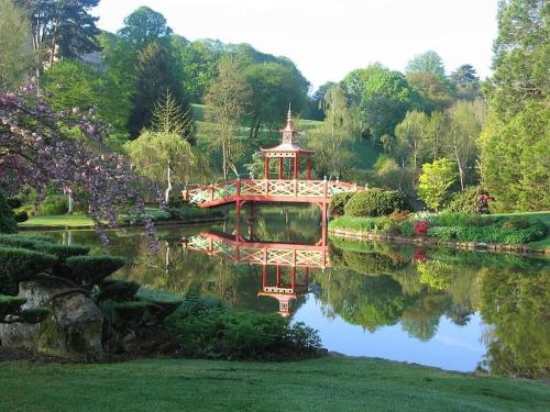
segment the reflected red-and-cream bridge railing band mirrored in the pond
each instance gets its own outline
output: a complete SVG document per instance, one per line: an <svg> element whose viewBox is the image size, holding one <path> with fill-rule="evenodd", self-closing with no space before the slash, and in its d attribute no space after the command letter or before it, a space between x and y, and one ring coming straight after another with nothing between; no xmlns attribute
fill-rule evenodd
<svg viewBox="0 0 550 412"><path fill-rule="evenodd" d="M201 233L186 242L190 250L207 253L235 264L326 268L330 267L328 247L322 240L317 245L248 242L240 236L227 238Z"/></svg>

